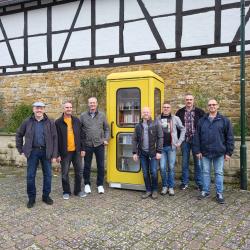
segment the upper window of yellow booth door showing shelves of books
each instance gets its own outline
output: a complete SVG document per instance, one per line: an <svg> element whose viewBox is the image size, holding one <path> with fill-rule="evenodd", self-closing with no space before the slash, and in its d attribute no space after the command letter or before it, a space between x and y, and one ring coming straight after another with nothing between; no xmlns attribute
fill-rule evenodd
<svg viewBox="0 0 250 250"><path fill-rule="evenodd" d="M141 93L138 88L117 91L117 125L135 127L141 117Z"/></svg>

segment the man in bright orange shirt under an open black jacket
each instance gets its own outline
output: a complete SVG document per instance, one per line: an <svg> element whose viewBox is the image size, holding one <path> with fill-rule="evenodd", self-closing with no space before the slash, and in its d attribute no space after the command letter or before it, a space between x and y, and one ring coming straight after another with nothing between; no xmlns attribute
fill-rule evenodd
<svg viewBox="0 0 250 250"><path fill-rule="evenodd" d="M63 105L63 114L56 120L58 134L58 158L62 168L63 199L68 200L71 195L69 168L72 162L75 172L74 194L85 197L81 191L82 157L85 152L81 143L81 122L72 116L72 103L66 101Z"/></svg>

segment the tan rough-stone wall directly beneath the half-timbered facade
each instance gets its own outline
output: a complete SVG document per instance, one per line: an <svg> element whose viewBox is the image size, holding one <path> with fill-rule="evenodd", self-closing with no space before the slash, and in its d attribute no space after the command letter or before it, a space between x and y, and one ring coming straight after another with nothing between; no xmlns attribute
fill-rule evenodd
<svg viewBox="0 0 250 250"><path fill-rule="evenodd" d="M134 70L152 70L164 79L165 99L172 102L174 111L183 105L185 93L195 91L197 94L203 93L219 99L222 113L233 122L239 119L239 56L1 76L2 106L8 114L18 103L43 100L48 104L47 113L55 118L61 113L62 102L66 99L74 100L76 97L81 78ZM247 56L246 107L250 125L250 86L247 84L249 76L250 56Z"/></svg>

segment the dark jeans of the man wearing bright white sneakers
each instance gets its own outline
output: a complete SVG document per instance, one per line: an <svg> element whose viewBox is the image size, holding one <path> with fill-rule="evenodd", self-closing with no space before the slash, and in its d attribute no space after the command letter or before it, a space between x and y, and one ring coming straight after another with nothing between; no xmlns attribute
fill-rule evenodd
<svg viewBox="0 0 250 250"><path fill-rule="evenodd" d="M93 158L93 153L95 154L96 164L97 164L97 186L103 186L104 180L104 145L100 145L98 147L86 147L85 149L85 157L84 157L84 170L83 170L83 178L85 185L90 185L90 171L91 171L91 163Z"/></svg>

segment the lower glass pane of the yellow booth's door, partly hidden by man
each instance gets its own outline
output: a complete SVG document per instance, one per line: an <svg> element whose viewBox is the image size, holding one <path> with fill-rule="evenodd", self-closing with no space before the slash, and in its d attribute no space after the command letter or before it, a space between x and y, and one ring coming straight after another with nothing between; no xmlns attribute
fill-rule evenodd
<svg viewBox="0 0 250 250"><path fill-rule="evenodd" d="M117 136L117 168L119 171L140 171L139 162L133 160L132 137L132 133L120 133Z"/></svg>

